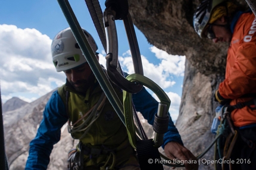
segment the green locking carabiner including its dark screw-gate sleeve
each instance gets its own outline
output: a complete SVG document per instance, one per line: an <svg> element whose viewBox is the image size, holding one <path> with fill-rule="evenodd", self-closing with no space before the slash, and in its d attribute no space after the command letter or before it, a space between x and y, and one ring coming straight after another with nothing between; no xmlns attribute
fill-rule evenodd
<svg viewBox="0 0 256 170"><path fill-rule="evenodd" d="M149 78L146 78L143 75L139 74L131 74L126 77L128 81L131 82L139 82L139 84L144 85L151 89L160 100L158 105L158 111L155 115L154 120L154 146L160 147L163 144L164 133L167 132L168 129L168 108L170 107L171 101L168 98L167 94L160 88L154 81ZM123 91L123 107L124 107L124 119L126 122L126 129L129 136L129 141L133 148L136 149L136 133L135 133L135 124L133 122L133 114L132 114L132 94L127 91Z"/></svg>

